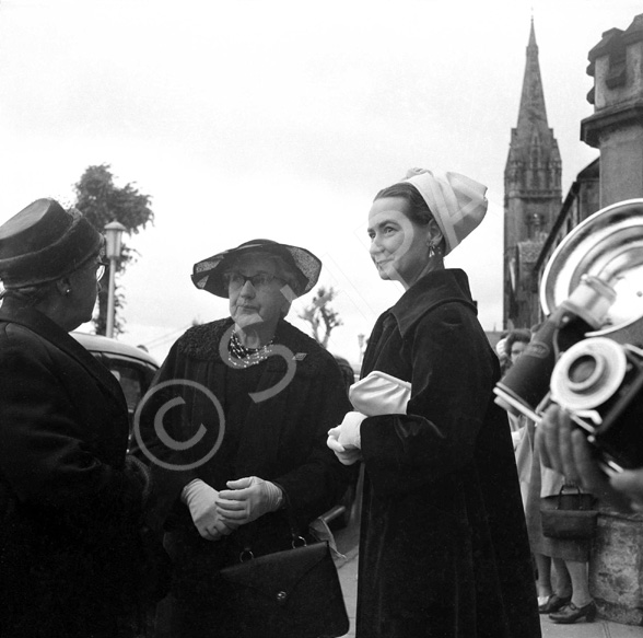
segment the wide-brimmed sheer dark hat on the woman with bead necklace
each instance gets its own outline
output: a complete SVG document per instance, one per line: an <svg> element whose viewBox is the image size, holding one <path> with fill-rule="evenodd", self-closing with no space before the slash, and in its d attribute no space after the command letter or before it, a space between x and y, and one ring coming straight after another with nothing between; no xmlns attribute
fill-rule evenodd
<svg viewBox="0 0 643 638"><path fill-rule="evenodd" d="M272 240L250 240L237 246L218 253L212 257L197 262L192 269L192 282L197 288L207 290L217 297L227 299L227 285L224 275L241 255L262 253L280 257L292 269L296 279L293 289L295 297L305 294L317 283L322 262L305 248L280 244Z"/></svg>

